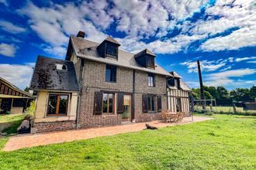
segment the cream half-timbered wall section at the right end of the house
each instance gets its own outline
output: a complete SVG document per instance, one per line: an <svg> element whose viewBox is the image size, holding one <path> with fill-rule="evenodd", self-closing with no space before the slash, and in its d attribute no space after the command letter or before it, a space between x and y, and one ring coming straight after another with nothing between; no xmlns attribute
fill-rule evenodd
<svg viewBox="0 0 256 170"><path fill-rule="evenodd" d="M168 110L176 112L176 98L181 99L181 112L189 114L189 92L185 90L168 89Z"/></svg>

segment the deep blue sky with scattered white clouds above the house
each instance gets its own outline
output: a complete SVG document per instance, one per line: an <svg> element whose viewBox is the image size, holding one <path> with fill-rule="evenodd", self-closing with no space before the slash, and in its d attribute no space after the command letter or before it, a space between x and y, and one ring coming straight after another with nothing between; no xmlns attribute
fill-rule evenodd
<svg viewBox="0 0 256 170"><path fill-rule="evenodd" d="M165 70L199 87L256 85L256 0L0 0L0 76L29 86L38 55L64 59L69 36L112 36L150 49Z"/></svg>

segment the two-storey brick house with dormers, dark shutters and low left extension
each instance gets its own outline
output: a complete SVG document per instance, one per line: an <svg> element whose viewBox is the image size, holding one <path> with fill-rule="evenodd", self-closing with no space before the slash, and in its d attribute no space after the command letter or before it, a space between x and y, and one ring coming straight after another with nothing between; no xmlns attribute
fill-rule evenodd
<svg viewBox="0 0 256 170"><path fill-rule="evenodd" d="M157 65L149 49L133 54L119 46L112 37L97 43L78 32L65 60L38 56L30 86L37 93L33 131L160 120L173 104L167 80L181 77Z"/></svg>

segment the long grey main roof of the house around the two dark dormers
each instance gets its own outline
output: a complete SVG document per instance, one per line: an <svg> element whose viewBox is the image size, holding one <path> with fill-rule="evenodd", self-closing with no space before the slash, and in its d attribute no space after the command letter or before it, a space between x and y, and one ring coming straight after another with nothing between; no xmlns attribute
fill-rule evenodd
<svg viewBox="0 0 256 170"><path fill-rule="evenodd" d="M172 76L170 73L168 73L168 71L164 70L161 66L157 64L154 70L140 66L140 64L138 64L135 60L133 53L123 51L122 49L118 50L118 60L116 60L102 58L101 56L99 56L99 53L97 52L97 46L99 46L99 43L97 42L92 42L81 37L71 36L71 43L76 55L81 58L90 59L100 63L107 63L115 66L123 66L134 70L142 70L148 73ZM147 51L147 53L149 53L149 50Z"/></svg>

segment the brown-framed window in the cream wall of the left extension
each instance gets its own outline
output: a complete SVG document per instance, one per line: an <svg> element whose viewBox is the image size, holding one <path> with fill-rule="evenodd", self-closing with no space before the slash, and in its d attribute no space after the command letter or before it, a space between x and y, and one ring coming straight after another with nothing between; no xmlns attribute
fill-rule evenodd
<svg viewBox="0 0 256 170"><path fill-rule="evenodd" d="M50 94L48 101L47 115L67 115L68 95Z"/></svg>

